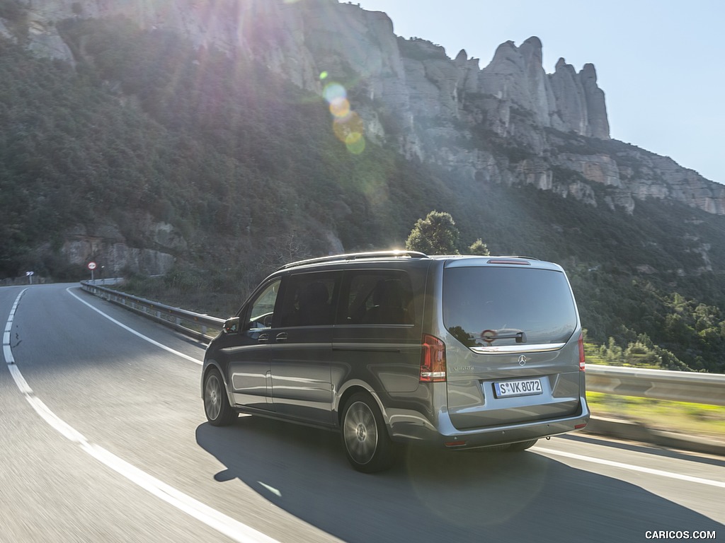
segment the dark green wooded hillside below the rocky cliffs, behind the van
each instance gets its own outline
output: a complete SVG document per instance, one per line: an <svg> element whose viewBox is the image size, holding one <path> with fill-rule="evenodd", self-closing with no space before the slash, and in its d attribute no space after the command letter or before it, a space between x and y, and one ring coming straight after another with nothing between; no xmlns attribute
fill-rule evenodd
<svg viewBox="0 0 725 543"><path fill-rule="evenodd" d="M188 248L165 279L133 284L223 315L278 264L326 253L330 236L345 251L402 247L437 209L462 249L480 237L492 254L562 264L602 361L725 371L725 217L654 200L629 215L462 180L369 141L350 153L320 96L262 67L125 20L58 24L75 69L0 39L0 278L85 277L59 251L79 227L112 223L154 248L144 211Z"/></svg>

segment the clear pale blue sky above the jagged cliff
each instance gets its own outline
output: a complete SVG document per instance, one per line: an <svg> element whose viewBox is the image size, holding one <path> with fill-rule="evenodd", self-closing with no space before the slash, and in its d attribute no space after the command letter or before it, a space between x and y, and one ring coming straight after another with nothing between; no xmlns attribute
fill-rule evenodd
<svg viewBox="0 0 725 543"><path fill-rule="evenodd" d="M610 135L725 184L725 1L359 0L393 31L484 68L505 41L535 35L544 72L592 63Z"/></svg>

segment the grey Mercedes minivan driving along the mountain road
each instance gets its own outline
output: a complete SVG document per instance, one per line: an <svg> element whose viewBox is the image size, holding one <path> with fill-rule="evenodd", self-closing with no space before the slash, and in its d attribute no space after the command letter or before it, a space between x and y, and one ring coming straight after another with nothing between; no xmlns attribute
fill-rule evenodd
<svg viewBox="0 0 725 543"><path fill-rule="evenodd" d="M404 443L520 451L581 429L584 388L558 264L413 251L283 266L225 322L202 369L210 424L251 413L335 429L368 473Z"/></svg>

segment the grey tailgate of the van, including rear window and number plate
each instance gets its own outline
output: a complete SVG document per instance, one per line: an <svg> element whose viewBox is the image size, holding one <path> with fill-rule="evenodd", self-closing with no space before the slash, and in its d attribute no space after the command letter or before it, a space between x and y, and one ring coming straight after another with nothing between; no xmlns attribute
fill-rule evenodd
<svg viewBox="0 0 725 543"><path fill-rule="evenodd" d="M572 416L581 325L566 274L525 259L444 268L448 411L458 429Z"/></svg>

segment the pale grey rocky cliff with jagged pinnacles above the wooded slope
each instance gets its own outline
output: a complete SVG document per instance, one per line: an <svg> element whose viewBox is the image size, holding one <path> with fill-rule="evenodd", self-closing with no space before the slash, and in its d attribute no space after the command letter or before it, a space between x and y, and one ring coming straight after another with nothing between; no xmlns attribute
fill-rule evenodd
<svg viewBox="0 0 725 543"><path fill-rule="evenodd" d="M502 43L481 69L465 51L451 59L428 41L398 38L386 14L336 0L16 1L23 16L0 19L0 33L36 54L75 62L55 22L123 15L254 59L312 93L344 82L368 140L461 176L629 213L643 198L671 198L725 214L725 185L611 140L595 67L576 72L560 59L546 74L536 37Z"/></svg>

